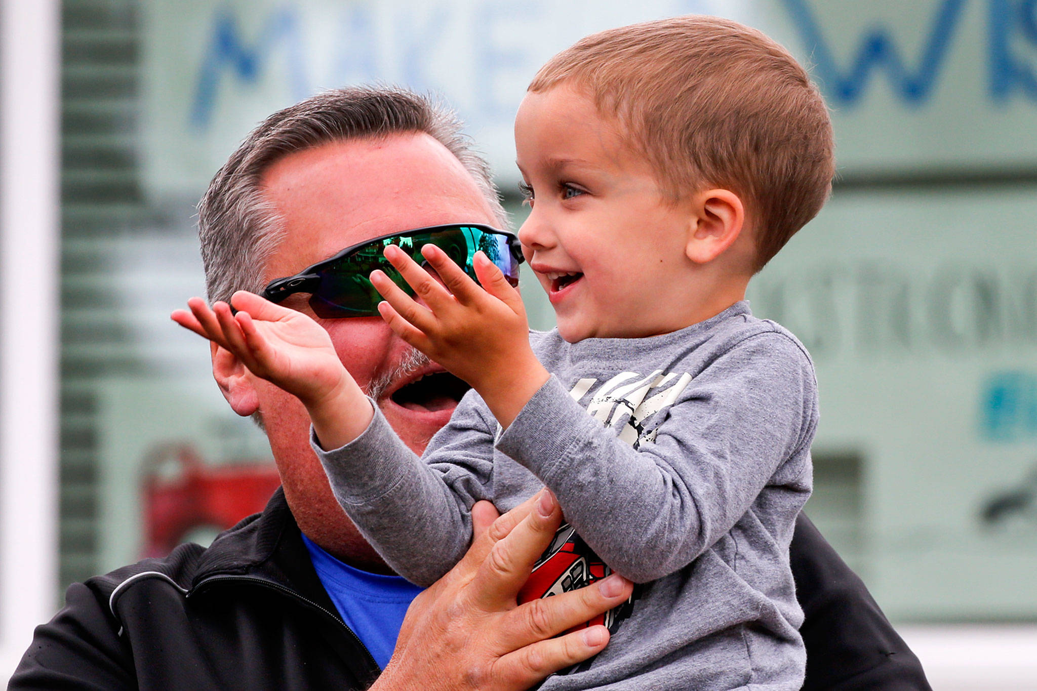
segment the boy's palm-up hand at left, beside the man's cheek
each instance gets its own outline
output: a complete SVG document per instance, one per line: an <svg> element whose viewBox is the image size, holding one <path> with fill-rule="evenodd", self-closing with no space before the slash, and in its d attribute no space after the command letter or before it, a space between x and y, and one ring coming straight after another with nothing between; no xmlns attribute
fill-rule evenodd
<svg viewBox="0 0 1037 691"><path fill-rule="evenodd" d="M217 301L209 309L200 297L191 311L170 315L176 323L234 354L252 374L299 398L325 449L357 438L374 410L342 366L328 332L296 310L239 290L230 298L237 310Z"/></svg>

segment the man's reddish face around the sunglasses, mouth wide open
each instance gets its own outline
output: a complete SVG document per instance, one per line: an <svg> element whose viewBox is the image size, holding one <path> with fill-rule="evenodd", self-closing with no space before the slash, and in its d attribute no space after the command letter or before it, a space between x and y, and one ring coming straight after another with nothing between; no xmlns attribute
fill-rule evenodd
<svg viewBox="0 0 1037 691"><path fill-rule="evenodd" d="M496 224L465 168L424 134L326 144L292 153L267 170L261 186L285 229L268 262L267 281L291 276L380 235L457 222ZM319 319L307 297L292 295L283 305L307 313L328 329L357 383L369 391L376 382L379 407L403 441L420 453L450 418L464 391L458 380L438 365L415 366L415 351L380 317ZM289 485L299 484L291 482L295 472L306 472L298 478L303 484L315 482L308 477L314 467L323 478L309 449L309 418L303 405L269 382L246 377L255 388L286 492Z"/></svg>

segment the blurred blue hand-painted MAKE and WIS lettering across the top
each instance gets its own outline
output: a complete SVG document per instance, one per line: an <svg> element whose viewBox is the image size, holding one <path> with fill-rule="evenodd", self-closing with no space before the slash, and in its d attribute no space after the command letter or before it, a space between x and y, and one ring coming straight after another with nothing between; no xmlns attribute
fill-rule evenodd
<svg viewBox="0 0 1037 691"><path fill-rule="evenodd" d="M907 107L920 107L928 102L938 87L945 66L961 33L962 17L970 0L931 0L931 20L923 27L925 37L917 56L906 55L891 30L896 18L862 29L860 36L848 37L853 42L846 64L840 64L833 52L832 36L825 35L812 8L820 0L777 0L788 13L802 39L802 53L809 55L816 68L825 95L834 106L849 110L865 100L869 85L876 74L888 80L895 97ZM980 0L972 0L980 2ZM700 2L689 0L689 7L701 11ZM1037 0L983 0L986 8L986 70L987 93L992 103L1006 103L1012 97L1037 102ZM257 35L247 39L234 17L233 5L224 3L213 16L208 46L198 70L190 121L196 128L206 127L216 110L221 84L225 76L240 83L256 84L262 78L276 53L285 60L288 91L296 99L311 92L306 64L306 36L302 35L299 18L305 3L286 3L270 12L260 24ZM498 71L528 70L532 53L501 47L493 42L489 27L499 25L516 11L530 11L526 5L487 3L479 5L477 20L472 23L473 35L465 49L473 56L475 110L484 118L510 118L513 104L498 103L495 79ZM343 8L338 27L336 55L332 56L332 74L324 86L397 79L418 90L442 88L441 76L430 74L428 57L443 47L436 45L438 36L450 23L447 6L431 4L421 12L404 12L395 17L391 27L398 41L395 56L399 67L395 75L386 74L387 63L379 59L377 27L371 8L364 3ZM459 11L459 9L457 10ZM983 15L978 15L982 17ZM488 24L482 25L486 21ZM313 56L310 56L313 57ZM977 94L979 95L979 94Z"/></svg>

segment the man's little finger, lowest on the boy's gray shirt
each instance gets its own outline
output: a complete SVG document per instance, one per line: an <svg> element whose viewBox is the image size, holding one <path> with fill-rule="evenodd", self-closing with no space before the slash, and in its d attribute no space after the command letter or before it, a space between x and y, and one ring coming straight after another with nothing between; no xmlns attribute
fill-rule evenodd
<svg viewBox="0 0 1037 691"><path fill-rule="evenodd" d="M503 656L494 665L494 678L501 688L528 689L548 674L596 655L608 642L604 626L541 640Z"/></svg>

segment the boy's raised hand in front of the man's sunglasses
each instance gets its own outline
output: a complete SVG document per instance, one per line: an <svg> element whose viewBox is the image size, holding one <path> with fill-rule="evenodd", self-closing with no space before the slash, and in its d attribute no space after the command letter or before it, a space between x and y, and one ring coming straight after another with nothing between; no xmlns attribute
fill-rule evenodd
<svg viewBox="0 0 1037 691"><path fill-rule="evenodd" d="M507 427L550 376L529 345L522 297L482 252L474 260L482 287L435 244L421 254L443 283L388 247L386 259L424 305L373 271L371 283L386 298L379 311L401 339L472 384Z"/></svg>

